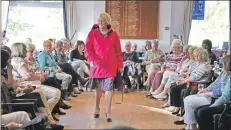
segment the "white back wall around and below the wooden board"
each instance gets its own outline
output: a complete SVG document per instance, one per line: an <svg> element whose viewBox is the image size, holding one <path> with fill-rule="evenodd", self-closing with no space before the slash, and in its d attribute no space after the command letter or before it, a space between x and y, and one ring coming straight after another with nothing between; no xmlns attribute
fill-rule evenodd
<svg viewBox="0 0 231 130"><path fill-rule="evenodd" d="M76 1L78 5L78 21L77 35L80 40L86 40L87 34L91 26L96 23L97 16L100 12L105 12L105 1ZM183 4L184 1L160 1L159 11L159 40L160 48L167 52L169 51L169 45L172 41L172 35L181 32L181 27L178 22L183 17ZM165 27L169 27L170 30L165 30ZM143 50L144 42L146 40L136 39L122 39L121 45L124 49L126 41L130 40L132 43L138 45L138 51Z"/></svg>

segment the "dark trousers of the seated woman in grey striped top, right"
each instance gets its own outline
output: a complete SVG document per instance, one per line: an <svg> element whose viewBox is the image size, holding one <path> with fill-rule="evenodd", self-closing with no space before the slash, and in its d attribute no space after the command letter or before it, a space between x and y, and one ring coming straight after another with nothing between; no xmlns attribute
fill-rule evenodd
<svg viewBox="0 0 231 130"><path fill-rule="evenodd" d="M170 105L181 107L181 90L185 89L187 84L173 85L170 87Z"/></svg>

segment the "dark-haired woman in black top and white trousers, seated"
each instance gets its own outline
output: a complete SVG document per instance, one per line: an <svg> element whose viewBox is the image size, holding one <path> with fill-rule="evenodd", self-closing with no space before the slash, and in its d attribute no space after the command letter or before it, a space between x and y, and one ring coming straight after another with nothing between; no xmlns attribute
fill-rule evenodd
<svg viewBox="0 0 231 130"><path fill-rule="evenodd" d="M89 76L90 73L90 65L87 62L86 57L84 56L84 49L85 44L83 41L78 40L75 44L74 50L70 53L70 60L71 65L73 69L82 77L84 78L84 75ZM80 85L80 84L79 84Z"/></svg>

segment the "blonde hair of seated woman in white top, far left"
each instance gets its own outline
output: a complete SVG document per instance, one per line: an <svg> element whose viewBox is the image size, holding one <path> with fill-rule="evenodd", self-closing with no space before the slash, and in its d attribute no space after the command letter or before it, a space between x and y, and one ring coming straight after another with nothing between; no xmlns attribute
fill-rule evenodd
<svg viewBox="0 0 231 130"><path fill-rule="evenodd" d="M24 57L25 53L27 52L26 45L21 42L14 43L11 46L11 51L12 57Z"/></svg>

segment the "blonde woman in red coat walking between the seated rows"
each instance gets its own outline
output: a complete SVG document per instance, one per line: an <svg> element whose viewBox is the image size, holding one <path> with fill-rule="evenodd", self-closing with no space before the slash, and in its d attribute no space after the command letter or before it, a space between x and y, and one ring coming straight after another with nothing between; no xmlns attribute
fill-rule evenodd
<svg viewBox="0 0 231 130"><path fill-rule="evenodd" d="M93 25L86 41L85 56L90 63L90 78L96 87L95 118L100 114L100 98L105 92L107 122L111 122L112 87L117 72L123 68L118 34L111 28L111 17L100 13L98 24Z"/></svg>

